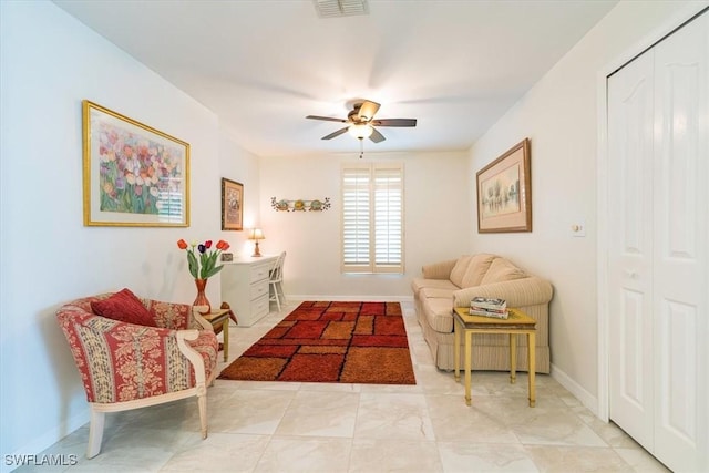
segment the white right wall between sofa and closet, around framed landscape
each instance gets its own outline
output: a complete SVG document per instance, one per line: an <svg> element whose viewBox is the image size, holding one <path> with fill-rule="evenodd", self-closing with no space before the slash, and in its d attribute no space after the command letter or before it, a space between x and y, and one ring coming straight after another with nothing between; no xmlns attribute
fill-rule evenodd
<svg viewBox="0 0 709 473"><path fill-rule="evenodd" d="M532 141L533 233L474 229L472 247L552 280L554 371L592 409L598 400L597 75L687 3L620 2L471 150L477 171L523 137ZM575 223L585 223L586 237L572 236Z"/></svg>

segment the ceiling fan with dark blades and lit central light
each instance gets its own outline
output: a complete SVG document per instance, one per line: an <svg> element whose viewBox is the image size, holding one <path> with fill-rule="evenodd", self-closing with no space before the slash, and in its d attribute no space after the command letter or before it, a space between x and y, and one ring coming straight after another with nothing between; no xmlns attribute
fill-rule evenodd
<svg viewBox="0 0 709 473"><path fill-rule="evenodd" d="M374 126L415 126L415 119L381 119L374 120L374 114L381 105L369 100L357 101L352 104L352 110L347 114L347 119L332 119L330 116L308 115L306 119L323 120L326 122L347 123L347 126L322 136L322 140L331 140L346 132L349 132L356 138L363 141L370 138L374 143L387 140L384 135L379 133Z"/></svg>

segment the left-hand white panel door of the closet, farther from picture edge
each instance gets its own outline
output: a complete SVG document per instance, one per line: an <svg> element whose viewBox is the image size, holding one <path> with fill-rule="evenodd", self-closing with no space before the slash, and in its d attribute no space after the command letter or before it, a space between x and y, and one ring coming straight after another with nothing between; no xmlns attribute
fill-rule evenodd
<svg viewBox="0 0 709 473"><path fill-rule="evenodd" d="M608 79L610 419L653 443L653 54Z"/></svg>

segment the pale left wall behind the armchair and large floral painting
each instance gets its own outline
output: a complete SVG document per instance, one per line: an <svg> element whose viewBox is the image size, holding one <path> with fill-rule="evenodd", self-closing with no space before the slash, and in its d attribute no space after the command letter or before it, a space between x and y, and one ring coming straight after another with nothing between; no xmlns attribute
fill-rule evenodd
<svg viewBox="0 0 709 473"><path fill-rule="evenodd" d="M229 235L220 232L220 141L212 112L51 2L2 1L0 8L6 455L38 453L88 421L79 373L54 318L62 302L122 287L191 302L194 282L176 240ZM83 226L83 99L192 145L189 228ZM238 179L235 167L224 165ZM258 192L257 173L244 178ZM219 299L218 284L208 296ZM3 471L4 463L3 456Z"/></svg>

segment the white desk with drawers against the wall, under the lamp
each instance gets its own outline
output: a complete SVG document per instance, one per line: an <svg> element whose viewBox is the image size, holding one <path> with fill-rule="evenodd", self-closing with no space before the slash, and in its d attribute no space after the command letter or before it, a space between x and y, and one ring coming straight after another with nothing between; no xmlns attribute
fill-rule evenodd
<svg viewBox="0 0 709 473"><path fill-rule="evenodd" d="M236 313L237 326L250 327L268 313L268 271L277 258L242 256L223 261L222 300Z"/></svg>

